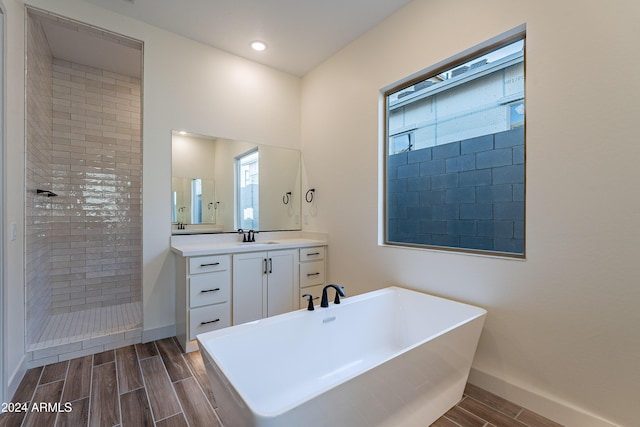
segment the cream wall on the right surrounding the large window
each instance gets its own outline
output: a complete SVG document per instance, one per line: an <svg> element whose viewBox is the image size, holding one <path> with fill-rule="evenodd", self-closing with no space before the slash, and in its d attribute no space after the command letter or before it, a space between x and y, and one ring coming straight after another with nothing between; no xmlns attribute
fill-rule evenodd
<svg viewBox="0 0 640 427"><path fill-rule="evenodd" d="M572 426L638 420L638 16L635 0L416 0L303 79L330 281L487 308L474 378ZM526 260L378 246L380 88L523 23Z"/></svg>

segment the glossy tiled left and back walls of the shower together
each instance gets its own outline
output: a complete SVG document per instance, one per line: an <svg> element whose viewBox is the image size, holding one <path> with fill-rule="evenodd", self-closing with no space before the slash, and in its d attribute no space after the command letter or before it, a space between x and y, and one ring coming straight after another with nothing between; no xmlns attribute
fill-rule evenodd
<svg viewBox="0 0 640 427"><path fill-rule="evenodd" d="M141 300L141 85L52 58L31 15L27 53L31 345L49 316Z"/></svg>

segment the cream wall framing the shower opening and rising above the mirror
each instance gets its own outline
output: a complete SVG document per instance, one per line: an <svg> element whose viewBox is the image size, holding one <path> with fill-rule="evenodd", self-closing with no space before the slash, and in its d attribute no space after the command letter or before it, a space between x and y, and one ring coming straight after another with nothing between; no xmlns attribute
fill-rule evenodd
<svg viewBox="0 0 640 427"><path fill-rule="evenodd" d="M24 14L7 6L7 191L5 226L23 224ZM143 311L145 337L174 327L171 229L171 130L285 148L300 147L300 79L108 12L79 0L29 0L29 5L144 42ZM5 203L6 202L6 205ZM7 242L5 366L19 381L24 357L24 239ZM14 384L15 386L15 384ZM11 393L9 393L11 394Z"/></svg>

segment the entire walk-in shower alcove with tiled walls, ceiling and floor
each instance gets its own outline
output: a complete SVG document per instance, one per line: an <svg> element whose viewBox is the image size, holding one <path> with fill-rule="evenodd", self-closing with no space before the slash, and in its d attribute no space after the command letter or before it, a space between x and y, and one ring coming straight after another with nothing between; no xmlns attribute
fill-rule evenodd
<svg viewBox="0 0 640 427"><path fill-rule="evenodd" d="M142 337L142 42L27 8L31 366Z"/></svg>

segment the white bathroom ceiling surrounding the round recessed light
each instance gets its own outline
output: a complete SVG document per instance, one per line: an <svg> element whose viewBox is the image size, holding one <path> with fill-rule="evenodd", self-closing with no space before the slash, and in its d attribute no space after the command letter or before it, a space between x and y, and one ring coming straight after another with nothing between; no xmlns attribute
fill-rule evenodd
<svg viewBox="0 0 640 427"><path fill-rule="evenodd" d="M411 0L84 1L303 76Z"/></svg>

